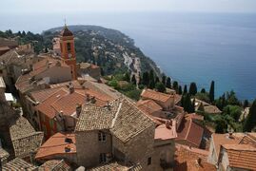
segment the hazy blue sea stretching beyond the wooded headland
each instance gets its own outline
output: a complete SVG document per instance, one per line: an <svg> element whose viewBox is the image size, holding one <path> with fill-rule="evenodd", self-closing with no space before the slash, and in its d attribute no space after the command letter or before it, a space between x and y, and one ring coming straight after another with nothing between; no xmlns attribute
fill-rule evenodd
<svg viewBox="0 0 256 171"><path fill-rule="evenodd" d="M64 25L118 29L181 85L196 82L216 96L233 89L256 98L256 14L253 13L40 13L0 16L0 30L42 32Z"/></svg>

